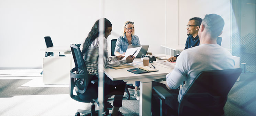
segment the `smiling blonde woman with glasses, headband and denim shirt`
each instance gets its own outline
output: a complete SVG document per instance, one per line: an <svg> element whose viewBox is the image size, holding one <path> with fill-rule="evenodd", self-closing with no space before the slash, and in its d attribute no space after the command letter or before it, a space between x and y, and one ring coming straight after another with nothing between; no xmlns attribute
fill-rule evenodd
<svg viewBox="0 0 256 116"><path fill-rule="evenodd" d="M121 36L117 39L115 43L115 56L124 55L129 45L141 45L139 37L134 33L134 23L132 21L126 21L121 30ZM140 82L136 81L134 96L137 100L140 100L140 97L138 97L138 87L140 87Z"/></svg>

